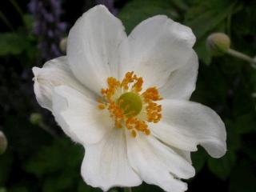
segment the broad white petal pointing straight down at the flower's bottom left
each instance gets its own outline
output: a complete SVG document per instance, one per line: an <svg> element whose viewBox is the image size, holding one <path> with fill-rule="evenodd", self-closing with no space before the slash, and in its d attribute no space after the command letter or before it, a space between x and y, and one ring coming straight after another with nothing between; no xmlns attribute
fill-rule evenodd
<svg viewBox="0 0 256 192"><path fill-rule="evenodd" d="M124 130L114 128L101 142L86 146L82 177L90 186L104 191L114 186L142 183L128 162Z"/></svg>

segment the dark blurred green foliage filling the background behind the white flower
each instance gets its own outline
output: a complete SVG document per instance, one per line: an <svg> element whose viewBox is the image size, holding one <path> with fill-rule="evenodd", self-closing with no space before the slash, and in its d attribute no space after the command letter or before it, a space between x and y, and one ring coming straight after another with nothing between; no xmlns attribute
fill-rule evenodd
<svg viewBox="0 0 256 192"><path fill-rule="evenodd" d="M27 14L28 2L18 2L26 13L22 18L8 1L0 2L1 13L12 25L4 26L6 22L0 21L0 129L9 141L6 154L0 156L0 192L101 191L87 186L79 174L82 146L66 138L51 114L41 109L34 98L30 68L42 66L42 60L38 39L32 33L34 19ZM92 1L81 0L77 6L63 1L63 17L76 18L78 13L73 10L81 10L82 4L86 8L93 6ZM224 157L214 159L198 147L198 152L192 154L197 175L189 180L188 191L256 191L256 98L252 96L256 93L256 70L229 56L212 58L205 46L209 34L225 32L234 49L255 55L256 1L117 0L115 6L128 34L142 20L166 14L190 26L197 37L194 49L200 68L191 100L210 106L222 117L228 151ZM58 138L30 122L34 112L43 115ZM143 184L133 191L162 190Z"/></svg>

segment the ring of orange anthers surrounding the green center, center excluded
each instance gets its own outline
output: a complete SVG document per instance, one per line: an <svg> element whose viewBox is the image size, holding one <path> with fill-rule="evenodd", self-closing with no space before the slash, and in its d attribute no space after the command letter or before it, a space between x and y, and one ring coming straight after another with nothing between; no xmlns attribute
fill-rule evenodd
<svg viewBox="0 0 256 192"><path fill-rule="evenodd" d="M162 118L162 106L155 103L162 99L158 93L158 89L156 87L150 87L141 94L143 78L137 77L137 75L134 74L134 71L127 72L125 77L122 79L122 82L113 77L107 78L107 85L108 87L106 89L101 90L102 99L97 99L97 102L99 103L98 109L109 110L110 117L114 118L115 126L117 128L125 126L130 130L132 137L135 138L137 136L137 131L141 131L142 133L149 135L150 130L146 122L157 123ZM114 94L118 93L116 92L117 90L123 91L123 94L133 92L142 97L143 105L145 105L143 109L146 112L147 118L143 120L137 116L130 118L129 115L133 113L133 111L127 111L130 107L129 104L121 109L120 106L123 103L122 99L118 100L113 97Z"/></svg>

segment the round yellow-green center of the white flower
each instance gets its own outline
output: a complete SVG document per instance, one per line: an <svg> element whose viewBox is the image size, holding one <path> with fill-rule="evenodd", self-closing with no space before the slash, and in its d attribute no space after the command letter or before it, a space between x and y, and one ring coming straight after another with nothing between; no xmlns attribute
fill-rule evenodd
<svg viewBox="0 0 256 192"><path fill-rule="evenodd" d="M127 118L136 116L142 110L142 99L133 92L122 94L118 98L118 103L120 103L120 108L124 110Z"/></svg>

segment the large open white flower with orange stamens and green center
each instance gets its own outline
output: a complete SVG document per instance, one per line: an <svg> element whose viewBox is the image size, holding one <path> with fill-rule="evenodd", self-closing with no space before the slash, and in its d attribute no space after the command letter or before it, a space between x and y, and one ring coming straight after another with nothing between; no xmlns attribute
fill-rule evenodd
<svg viewBox="0 0 256 192"><path fill-rule="evenodd" d="M67 55L33 68L39 104L86 149L87 184L185 191L191 151L226 153L221 118L188 101L198 74L194 42L189 27L162 15L127 37L118 18L95 6L70 30Z"/></svg>

